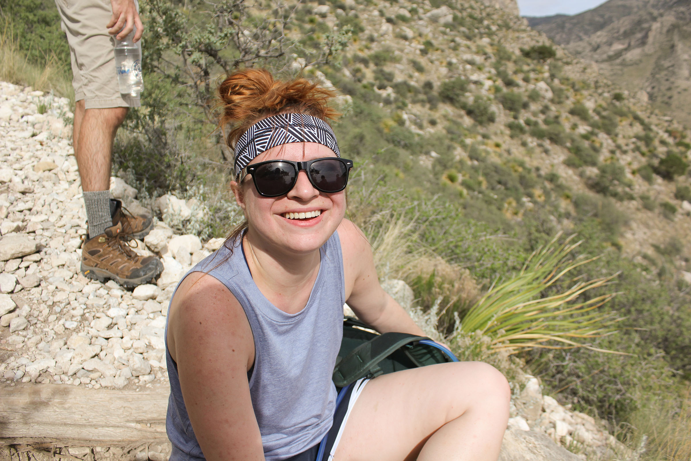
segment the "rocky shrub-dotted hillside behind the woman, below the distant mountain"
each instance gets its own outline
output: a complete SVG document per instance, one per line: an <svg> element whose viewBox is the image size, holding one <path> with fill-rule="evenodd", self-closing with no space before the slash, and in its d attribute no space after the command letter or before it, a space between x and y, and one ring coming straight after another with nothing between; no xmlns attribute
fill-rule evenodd
<svg viewBox="0 0 691 461"><path fill-rule="evenodd" d="M352 115L337 127L354 153L384 149L375 160L400 176L427 169L483 219L494 209L520 222L540 208L568 230L577 216L614 218L623 232L613 243L643 263L670 238L680 252L691 244L690 133L656 115L645 93L482 3L311 8L320 14L303 32L359 31L326 75L367 113L366 124Z"/></svg>

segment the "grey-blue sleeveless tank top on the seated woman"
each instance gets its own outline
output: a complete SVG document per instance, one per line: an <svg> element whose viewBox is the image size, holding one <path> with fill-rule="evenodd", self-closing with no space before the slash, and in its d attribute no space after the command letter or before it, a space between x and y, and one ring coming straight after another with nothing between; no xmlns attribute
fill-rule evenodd
<svg viewBox="0 0 691 461"><path fill-rule="evenodd" d="M287 314L257 288L240 242L238 238L232 254L220 247L185 276L208 271L243 306L254 335L249 391L264 455L268 461L285 460L318 444L331 429L336 402L331 376L343 336L345 303L341 243L334 232L319 249L321 264L310 299L300 312ZM203 460L168 344L166 360L171 385L166 418L173 444L170 461Z"/></svg>

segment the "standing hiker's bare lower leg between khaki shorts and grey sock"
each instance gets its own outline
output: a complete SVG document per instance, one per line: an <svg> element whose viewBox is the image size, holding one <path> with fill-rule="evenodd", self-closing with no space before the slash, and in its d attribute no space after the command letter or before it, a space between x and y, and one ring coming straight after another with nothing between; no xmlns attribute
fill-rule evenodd
<svg viewBox="0 0 691 461"><path fill-rule="evenodd" d="M126 107L84 109L77 101L73 144L84 191L107 191L111 182L113 141Z"/></svg>

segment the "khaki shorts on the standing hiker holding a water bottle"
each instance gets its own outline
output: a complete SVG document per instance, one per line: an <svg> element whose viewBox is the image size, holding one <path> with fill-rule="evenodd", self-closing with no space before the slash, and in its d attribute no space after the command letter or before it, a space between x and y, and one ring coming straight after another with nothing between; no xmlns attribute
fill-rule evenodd
<svg viewBox="0 0 691 461"><path fill-rule="evenodd" d="M55 5L70 45L75 100L84 100L86 109L139 107L139 97L120 95L117 85L115 39L106 29L111 1L55 0Z"/></svg>

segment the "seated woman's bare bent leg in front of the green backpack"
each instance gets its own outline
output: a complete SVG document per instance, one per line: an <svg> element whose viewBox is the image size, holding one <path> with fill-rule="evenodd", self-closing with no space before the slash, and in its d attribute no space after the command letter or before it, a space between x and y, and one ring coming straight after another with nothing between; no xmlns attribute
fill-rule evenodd
<svg viewBox="0 0 691 461"><path fill-rule="evenodd" d="M482 362L372 379L355 402L334 461L493 461L509 420L507 379Z"/></svg>

